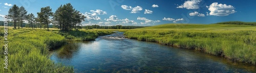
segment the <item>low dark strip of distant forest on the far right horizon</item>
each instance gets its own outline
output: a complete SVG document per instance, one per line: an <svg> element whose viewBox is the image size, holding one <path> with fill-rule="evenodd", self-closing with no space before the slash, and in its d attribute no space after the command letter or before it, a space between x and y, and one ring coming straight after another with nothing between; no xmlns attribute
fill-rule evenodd
<svg viewBox="0 0 256 73"><path fill-rule="evenodd" d="M214 24L221 24L221 25L250 25L256 26L256 22L242 22L242 21L227 21L227 22L218 22Z"/></svg>

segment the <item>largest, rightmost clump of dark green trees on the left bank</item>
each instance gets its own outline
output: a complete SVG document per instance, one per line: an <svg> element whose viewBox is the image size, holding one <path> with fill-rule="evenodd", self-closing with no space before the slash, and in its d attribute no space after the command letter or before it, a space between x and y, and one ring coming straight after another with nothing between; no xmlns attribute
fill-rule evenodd
<svg viewBox="0 0 256 73"><path fill-rule="evenodd" d="M86 16L82 15L79 11L75 10L73 6L68 3L61 5L53 14L53 24L62 31L70 31L77 26L81 26Z"/></svg>

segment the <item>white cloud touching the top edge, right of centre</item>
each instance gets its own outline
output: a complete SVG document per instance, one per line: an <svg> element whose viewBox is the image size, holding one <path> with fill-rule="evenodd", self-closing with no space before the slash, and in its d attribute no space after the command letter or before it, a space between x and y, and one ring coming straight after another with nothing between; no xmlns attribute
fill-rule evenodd
<svg viewBox="0 0 256 73"><path fill-rule="evenodd" d="M202 0L190 0L185 1L184 4L178 6L177 8L186 8L186 9L199 9L199 4Z"/></svg>

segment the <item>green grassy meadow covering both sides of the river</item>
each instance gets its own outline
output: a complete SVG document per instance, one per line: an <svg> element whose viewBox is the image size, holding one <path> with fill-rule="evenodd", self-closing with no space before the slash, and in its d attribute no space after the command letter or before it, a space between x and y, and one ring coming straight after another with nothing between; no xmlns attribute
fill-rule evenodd
<svg viewBox="0 0 256 73"><path fill-rule="evenodd" d="M0 31L0 39L4 40L4 28L0 28ZM131 39L194 49L253 65L256 62L256 26L166 24L129 30L82 29L70 32L24 28L8 30L9 65L8 70L0 68L0 72L74 72L72 66L51 61L49 50L68 44L70 40L95 40L98 36L112 34L113 31L125 32L124 35ZM3 54L0 59L0 65L4 66Z"/></svg>

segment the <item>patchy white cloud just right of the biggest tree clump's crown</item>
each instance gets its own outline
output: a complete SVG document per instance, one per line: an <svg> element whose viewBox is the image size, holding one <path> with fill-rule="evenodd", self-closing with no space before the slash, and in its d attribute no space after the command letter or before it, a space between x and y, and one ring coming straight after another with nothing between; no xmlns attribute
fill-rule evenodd
<svg viewBox="0 0 256 73"><path fill-rule="evenodd" d="M101 18L98 15L106 14L105 11L98 10L98 9L96 11L94 10L90 10L90 11L91 13L90 12L82 13L84 16L86 16L86 19L85 19L86 22L90 22L90 20L101 20Z"/></svg>

